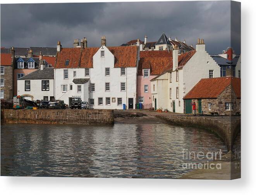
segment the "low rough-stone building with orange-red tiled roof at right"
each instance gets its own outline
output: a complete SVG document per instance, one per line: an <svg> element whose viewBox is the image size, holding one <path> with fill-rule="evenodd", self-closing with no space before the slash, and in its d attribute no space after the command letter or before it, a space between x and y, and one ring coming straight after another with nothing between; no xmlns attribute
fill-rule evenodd
<svg viewBox="0 0 256 195"><path fill-rule="evenodd" d="M241 79L233 76L201 79L184 97L196 103L197 114L241 114ZM188 108L188 107L187 107ZM192 106L187 113L192 113Z"/></svg>

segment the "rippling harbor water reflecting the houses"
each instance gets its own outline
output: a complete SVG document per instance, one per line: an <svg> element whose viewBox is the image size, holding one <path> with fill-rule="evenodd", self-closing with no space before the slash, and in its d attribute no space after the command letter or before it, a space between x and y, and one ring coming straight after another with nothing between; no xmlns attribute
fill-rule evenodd
<svg viewBox="0 0 256 195"><path fill-rule="evenodd" d="M1 175L178 178L183 149L227 152L208 131L168 124L4 124Z"/></svg>

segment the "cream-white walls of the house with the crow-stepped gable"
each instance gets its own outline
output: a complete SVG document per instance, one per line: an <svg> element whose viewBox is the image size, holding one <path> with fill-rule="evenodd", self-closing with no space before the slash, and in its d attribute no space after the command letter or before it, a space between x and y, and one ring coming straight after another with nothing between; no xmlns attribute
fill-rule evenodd
<svg viewBox="0 0 256 195"><path fill-rule="evenodd" d="M151 81L151 87L153 86L153 83L158 84L156 85L157 89L154 94L155 97L158 97L158 102L160 103L157 105L158 108L162 107L163 109L168 109L172 112L172 102L175 101L175 112L184 113L183 97L194 85L196 85L196 83L198 83L199 80L202 78L209 78L209 70L213 70L213 77L220 77L220 66L218 66L218 64L205 51L205 45L196 45L196 53L181 70L178 70L179 81L176 81L176 70L172 71L172 83L170 83L170 73L165 73L165 75L157 78L157 80L167 78L167 85L159 85L160 83L158 83L158 81ZM177 87L179 87L178 98L176 98ZM172 88L171 99L169 95L170 88Z"/></svg>

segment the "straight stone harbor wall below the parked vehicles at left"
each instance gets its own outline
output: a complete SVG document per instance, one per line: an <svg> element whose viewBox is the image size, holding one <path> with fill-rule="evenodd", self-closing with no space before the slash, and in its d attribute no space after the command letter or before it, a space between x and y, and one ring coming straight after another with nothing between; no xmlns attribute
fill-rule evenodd
<svg viewBox="0 0 256 195"><path fill-rule="evenodd" d="M1 109L1 122L27 124L113 124L113 110Z"/></svg>

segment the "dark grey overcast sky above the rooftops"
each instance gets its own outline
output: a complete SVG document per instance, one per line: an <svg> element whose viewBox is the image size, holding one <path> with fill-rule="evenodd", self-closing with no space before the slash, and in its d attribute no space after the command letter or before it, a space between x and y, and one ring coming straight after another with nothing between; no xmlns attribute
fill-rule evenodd
<svg viewBox="0 0 256 195"><path fill-rule="evenodd" d="M235 13L240 7L233 6ZM75 38L87 37L88 47L119 46L131 39L157 41L162 32L195 46L204 39L208 53L228 46L240 53L241 20L229 1L1 4L1 46L72 47ZM230 24L231 23L231 24ZM235 31L230 43L230 29Z"/></svg>

